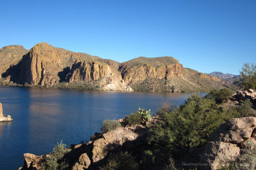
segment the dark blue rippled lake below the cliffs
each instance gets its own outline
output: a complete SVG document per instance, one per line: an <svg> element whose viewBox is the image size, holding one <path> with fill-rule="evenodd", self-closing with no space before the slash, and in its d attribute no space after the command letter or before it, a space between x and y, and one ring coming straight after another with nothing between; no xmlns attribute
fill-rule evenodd
<svg viewBox="0 0 256 170"><path fill-rule="evenodd" d="M0 86L0 169L23 166L23 154L52 152L56 142L79 144L100 132L105 119L120 119L139 107L154 114L163 102L180 105L191 93L114 92Z"/></svg>

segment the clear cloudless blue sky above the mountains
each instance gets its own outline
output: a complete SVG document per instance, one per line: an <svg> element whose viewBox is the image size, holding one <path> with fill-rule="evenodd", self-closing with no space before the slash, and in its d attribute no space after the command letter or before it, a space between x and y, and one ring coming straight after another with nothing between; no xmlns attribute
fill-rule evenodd
<svg viewBox="0 0 256 170"><path fill-rule="evenodd" d="M0 16L0 48L47 42L118 62L172 56L203 73L256 63L255 0L8 0Z"/></svg>

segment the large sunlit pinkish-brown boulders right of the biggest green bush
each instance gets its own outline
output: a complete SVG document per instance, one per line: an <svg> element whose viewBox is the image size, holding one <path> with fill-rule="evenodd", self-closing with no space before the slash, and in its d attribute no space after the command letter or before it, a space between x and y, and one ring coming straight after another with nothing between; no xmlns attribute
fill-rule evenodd
<svg viewBox="0 0 256 170"><path fill-rule="evenodd" d="M218 169L221 161L234 160L240 153L241 145L254 139L255 117L231 119L215 129L204 147L201 162L208 164L203 169Z"/></svg>

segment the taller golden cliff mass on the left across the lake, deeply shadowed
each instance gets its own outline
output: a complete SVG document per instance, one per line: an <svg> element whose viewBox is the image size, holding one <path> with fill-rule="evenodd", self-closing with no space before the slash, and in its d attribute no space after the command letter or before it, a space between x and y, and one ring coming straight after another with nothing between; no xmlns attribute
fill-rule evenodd
<svg viewBox="0 0 256 170"><path fill-rule="evenodd" d="M90 82L108 76L110 79L115 79L113 83L117 83L118 88L109 86L103 89L132 91L123 83L121 74L116 69L117 64L115 61L97 56L38 43L22 57L19 63L7 69L3 77L22 85L52 86L63 81Z"/></svg>

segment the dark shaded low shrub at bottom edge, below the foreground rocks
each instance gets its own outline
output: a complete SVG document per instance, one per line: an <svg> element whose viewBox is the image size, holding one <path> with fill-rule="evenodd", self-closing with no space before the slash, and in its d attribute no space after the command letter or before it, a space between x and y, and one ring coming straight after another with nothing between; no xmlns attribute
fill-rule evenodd
<svg viewBox="0 0 256 170"><path fill-rule="evenodd" d="M133 156L128 152L120 152L112 154L107 159L105 166L101 166L100 170L137 170L139 169L138 163L134 160Z"/></svg>

